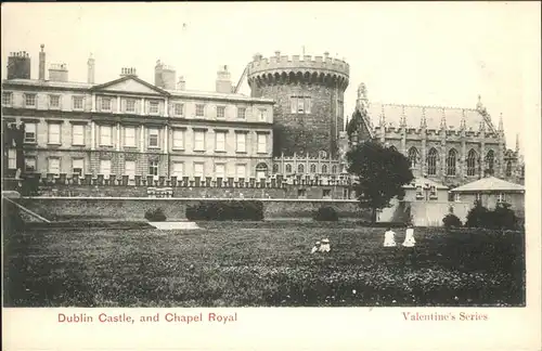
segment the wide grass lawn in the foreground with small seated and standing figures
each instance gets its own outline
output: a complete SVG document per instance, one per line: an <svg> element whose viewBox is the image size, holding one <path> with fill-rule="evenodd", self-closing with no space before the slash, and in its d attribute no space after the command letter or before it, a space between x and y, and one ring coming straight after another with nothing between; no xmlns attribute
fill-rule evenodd
<svg viewBox="0 0 542 351"><path fill-rule="evenodd" d="M4 237L4 306L525 306L522 233L416 229L416 247L385 248L356 223L198 224ZM332 252L311 256L323 237Z"/></svg>

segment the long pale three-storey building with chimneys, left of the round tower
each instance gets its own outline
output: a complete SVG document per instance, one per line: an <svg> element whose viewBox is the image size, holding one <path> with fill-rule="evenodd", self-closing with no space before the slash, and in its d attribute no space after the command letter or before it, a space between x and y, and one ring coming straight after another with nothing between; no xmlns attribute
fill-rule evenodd
<svg viewBox="0 0 542 351"><path fill-rule="evenodd" d="M25 127L25 173L210 185L270 172L274 101L232 93L227 67L217 91L198 92L182 77L176 84L162 62L154 84L134 68L95 83L92 57L87 82L70 81L66 64L51 65L46 79L43 46L39 58L39 78L30 79L30 56L12 53L2 81L2 118Z"/></svg>

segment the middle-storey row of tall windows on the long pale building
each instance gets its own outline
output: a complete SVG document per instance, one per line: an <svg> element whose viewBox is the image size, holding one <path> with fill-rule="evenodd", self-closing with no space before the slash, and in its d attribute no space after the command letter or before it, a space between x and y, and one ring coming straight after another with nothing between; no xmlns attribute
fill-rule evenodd
<svg viewBox="0 0 542 351"><path fill-rule="evenodd" d="M61 123L49 122L48 123L48 143L49 144L61 144ZM98 126L99 134L99 145L100 146L113 146L113 126ZM122 127L124 131L124 147L137 147L136 135L137 127ZM147 146L151 148L159 148L160 146L160 133L158 128L147 128L149 140ZM36 143L37 125L36 123L25 123L25 143ZM185 145L185 130L184 129L173 129L172 130L172 148L184 150ZM215 131L215 151L227 152L227 135L228 131L216 130ZM268 134L257 133L257 153L268 152ZM197 152L206 151L206 131L205 130L193 130L193 150ZM83 146L85 142L85 126L83 125L73 125L72 126L72 145ZM237 153L246 153L246 132L235 132L235 151Z"/></svg>

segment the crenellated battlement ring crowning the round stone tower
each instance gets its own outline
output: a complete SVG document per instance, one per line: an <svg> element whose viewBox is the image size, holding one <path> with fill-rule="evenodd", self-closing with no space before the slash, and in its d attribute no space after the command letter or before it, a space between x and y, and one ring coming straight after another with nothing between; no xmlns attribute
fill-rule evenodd
<svg viewBox="0 0 542 351"><path fill-rule="evenodd" d="M323 56L312 55L281 55L276 52L274 56L263 58L260 54L254 56L253 62L248 64L248 76L261 74L282 74L289 75L297 74L324 74L324 75L338 75L348 79L350 75L350 65L343 60L330 57L328 53Z"/></svg>

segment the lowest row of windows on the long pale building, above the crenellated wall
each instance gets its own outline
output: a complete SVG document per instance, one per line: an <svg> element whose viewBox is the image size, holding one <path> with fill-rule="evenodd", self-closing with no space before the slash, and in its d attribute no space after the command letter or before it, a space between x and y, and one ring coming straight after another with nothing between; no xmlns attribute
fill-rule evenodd
<svg viewBox="0 0 542 351"><path fill-rule="evenodd" d="M61 173L61 159L56 157L49 157L47 165L47 171L51 174L60 174ZM141 176L158 176L158 160L149 160L149 172L146 174ZM203 162L193 162L193 177L205 177L205 165ZM27 157L25 158L25 171L26 172L35 172L36 171L36 158ZM85 174L85 159L83 158L72 158L72 174L78 174L82 177ZM111 159L101 159L100 160L100 169L99 174L103 174L104 177L108 177L112 174L112 161ZM126 160L125 169L122 176L128 176L129 179L133 179L137 174L137 162L134 160ZM171 177L181 178L184 173L184 162L182 161L173 161L171 164ZM225 164L215 164L215 178L227 178L227 165ZM264 178L266 174L258 174L260 178ZM247 177L247 168L245 164L235 165L235 177L244 178Z"/></svg>

